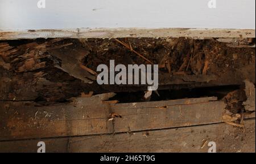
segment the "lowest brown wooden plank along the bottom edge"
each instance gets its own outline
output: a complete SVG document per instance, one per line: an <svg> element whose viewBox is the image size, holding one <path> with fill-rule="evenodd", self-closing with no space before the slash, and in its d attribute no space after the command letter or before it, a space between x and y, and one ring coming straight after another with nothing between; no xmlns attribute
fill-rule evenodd
<svg viewBox="0 0 256 164"><path fill-rule="evenodd" d="M217 152L255 152L255 119L245 120L244 130L218 123L117 135L0 141L0 152L36 152L39 141L46 143L46 152L208 152L210 141L216 143Z"/></svg>

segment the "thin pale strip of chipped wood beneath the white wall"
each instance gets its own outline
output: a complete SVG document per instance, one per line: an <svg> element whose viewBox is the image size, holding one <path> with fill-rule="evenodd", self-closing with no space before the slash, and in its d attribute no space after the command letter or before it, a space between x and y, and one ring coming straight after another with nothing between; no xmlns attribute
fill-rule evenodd
<svg viewBox="0 0 256 164"><path fill-rule="evenodd" d="M255 29L193 29L193 28L79 28L0 31L0 40L33 38L115 38L115 37L191 37L254 38Z"/></svg>

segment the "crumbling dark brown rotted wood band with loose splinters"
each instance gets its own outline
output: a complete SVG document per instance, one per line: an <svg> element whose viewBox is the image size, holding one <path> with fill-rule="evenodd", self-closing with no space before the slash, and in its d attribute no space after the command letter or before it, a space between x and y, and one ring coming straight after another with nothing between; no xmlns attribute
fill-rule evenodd
<svg viewBox="0 0 256 164"><path fill-rule="evenodd" d="M159 89L255 83L255 49L229 48L212 38L123 38L159 64ZM253 40L252 40L253 41ZM114 40L63 39L0 43L0 100L59 102L81 93L146 90L143 85L98 85L96 67L144 63ZM211 45L212 44L212 45ZM146 50L145 50L146 49ZM115 51L113 51L115 50ZM104 54L104 55L102 55ZM163 63L162 63L163 62ZM172 67L167 71L169 65Z"/></svg>

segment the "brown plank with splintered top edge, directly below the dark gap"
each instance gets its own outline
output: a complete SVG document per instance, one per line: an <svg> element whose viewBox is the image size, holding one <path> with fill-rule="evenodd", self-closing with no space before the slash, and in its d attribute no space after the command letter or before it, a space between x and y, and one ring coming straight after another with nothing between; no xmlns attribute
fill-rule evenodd
<svg viewBox="0 0 256 164"><path fill-rule="evenodd" d="M0 140L94 135L222 122L225 103L216 97L159 102L102 103L113 93L71 103L35 106L0 102ZM111 118L111 114L122 118Z"/></svg>

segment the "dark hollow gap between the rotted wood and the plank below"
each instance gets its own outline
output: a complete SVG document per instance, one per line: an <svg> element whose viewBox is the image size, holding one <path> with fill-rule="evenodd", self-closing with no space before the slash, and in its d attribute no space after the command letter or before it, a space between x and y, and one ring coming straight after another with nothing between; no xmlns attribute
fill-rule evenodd
<svg viewBox="0 0 256 164"><path fill-rule="evenodd" d="M240 85L227 85L218 87L202 87L202 88L183 88L183 89L161 89L157 92L152 92L151 97L147 101L165 101L165 100L178 100L184 98L202 98L202 97L217 97L217 100L224 100L224 98L232 93L234 90L240 89ZM105 92L107 93L107 92ZM134 92L115 92L116 95L109 99L118 100L118 103L131 103L131 102L145 102L142 90L135 90ZM102 93L94 93L102 94ZM159 95L158 95L159 94ZM12 100L6 100L12 101ZM55 101L48 101L44 96L38 96L35 100L23 100L35 102L40 106L54 105L58 103L69 103L71 100L59 98ZM19 101L15 101L19 102Z"/></svg>

